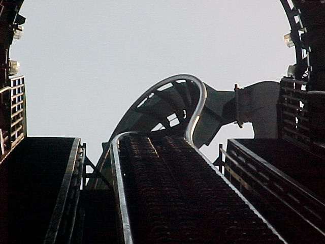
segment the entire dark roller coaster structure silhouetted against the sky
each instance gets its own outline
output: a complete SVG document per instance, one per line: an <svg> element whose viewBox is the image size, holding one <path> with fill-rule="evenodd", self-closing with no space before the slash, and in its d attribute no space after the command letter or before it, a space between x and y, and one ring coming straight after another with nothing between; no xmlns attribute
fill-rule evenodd
<svg viewBox="0 0 325 244"><path fill-rule="evenodd" d="M280 83L160 81L96 166L79 138L27 136L24 77L9 59L22 1L1 1L0 242L324 243L325 1L280 1L297 59ZM199 148L233 121L255 138L229 139L210 162Z"/></svg>

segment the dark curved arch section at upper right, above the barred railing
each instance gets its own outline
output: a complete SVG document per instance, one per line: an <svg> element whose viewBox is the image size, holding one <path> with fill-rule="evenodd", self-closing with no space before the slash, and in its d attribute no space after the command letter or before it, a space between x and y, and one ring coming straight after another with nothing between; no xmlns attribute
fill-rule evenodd
<svg viewBox="0 0 325 244"><path fill-rule="evenodd" d="M309 82L308 89L324 90L325 85L325 2L322 0L280 0L287 15L290 37L296 48L294 76ZM292 2L293 8L289 2Z"/></svg>

